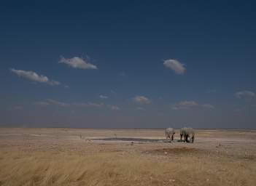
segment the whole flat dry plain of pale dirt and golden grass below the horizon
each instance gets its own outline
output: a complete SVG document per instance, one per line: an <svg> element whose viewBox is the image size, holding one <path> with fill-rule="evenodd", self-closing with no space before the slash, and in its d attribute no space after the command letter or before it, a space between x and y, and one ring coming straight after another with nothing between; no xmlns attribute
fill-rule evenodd
<svg viewBox="0 0 256 186"><path fill-rule="evenodd" d="M256 130L0 128L0 185L256 185Z"/></svg>

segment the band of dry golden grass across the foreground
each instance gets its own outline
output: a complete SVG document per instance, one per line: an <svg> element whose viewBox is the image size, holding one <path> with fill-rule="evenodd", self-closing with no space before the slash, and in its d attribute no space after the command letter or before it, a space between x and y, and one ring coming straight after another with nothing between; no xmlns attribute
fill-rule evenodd
<svg viewBox="0 0 256 186"><path fill-rule="evenodd" d="M206 155L0 153L0 185L255 185L256 162Z"/></svg>

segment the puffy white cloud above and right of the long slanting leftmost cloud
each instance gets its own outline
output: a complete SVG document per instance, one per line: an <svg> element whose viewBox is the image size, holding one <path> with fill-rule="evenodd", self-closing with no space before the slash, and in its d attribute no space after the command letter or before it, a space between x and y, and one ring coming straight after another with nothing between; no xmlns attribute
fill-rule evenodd
<svg viewBox="0 0 256 186"><path fill-rule="evenodd" d="M61 57L59 63L65 63L66 65L71 66L72 68L82 68L82 69L98 69L96 65L91 64L85 59L80 57L72 57L72 58L65 58Z"/></svg>

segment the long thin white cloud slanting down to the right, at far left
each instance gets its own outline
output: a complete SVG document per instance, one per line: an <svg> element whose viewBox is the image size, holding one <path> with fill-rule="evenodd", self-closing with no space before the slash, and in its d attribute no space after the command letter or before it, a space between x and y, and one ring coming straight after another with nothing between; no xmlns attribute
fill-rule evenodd
<svg viewBox="0 0 256 186"><path fill-rule="evenodd" d="M11 68L10 71L12 73L15 73L19 77L27 78L31 81L36 81L36 82L39 82L39 83L45 83L45 84L50 84L50 85L59 85L59 84L61 84L58 81L50 80L49 78L47 78L47 76L38 75L37 73L35 73L33 71L16 70L14 68Z"/></svg>

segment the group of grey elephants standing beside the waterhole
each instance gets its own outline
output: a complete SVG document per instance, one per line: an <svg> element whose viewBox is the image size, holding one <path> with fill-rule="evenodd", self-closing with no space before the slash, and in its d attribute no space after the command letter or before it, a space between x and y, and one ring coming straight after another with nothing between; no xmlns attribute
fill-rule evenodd
<svg viewBox="0 0 256 186"><path fill-rule="evenodd" d="M166 141L170 139L170 142L174 140L174 128L166 129ZM182 137L184 138L184 142L194 142L195 140L195 132L192 128L184 127L180 129L180 141L182 142Z"/></svg>

